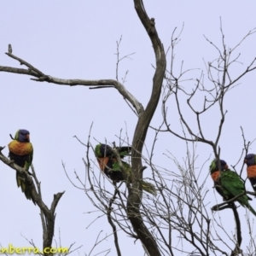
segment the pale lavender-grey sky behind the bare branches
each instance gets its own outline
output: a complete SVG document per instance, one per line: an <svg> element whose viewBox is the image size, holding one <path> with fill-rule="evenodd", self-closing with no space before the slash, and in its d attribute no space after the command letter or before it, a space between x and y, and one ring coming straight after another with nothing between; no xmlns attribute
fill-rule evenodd
<svg viewBox="0 0 256 256"><path fill-rule="evenodd" d="M207 43L203 35L218 46L221 45L219 17L222 18L226 44L231 48L256 26L254 1L247 1L245 4L241 1L230 3L220 0L146 0L144 6L148 16L155 19L155 26L165 49L170 45L173 29L177 27L177 30L180 30L184 23L181 42L176 49L177 69L181 61L184 61L184 68L204 68L203 59L212 61L218 57L217 51ZM120 63L119 79L129 70L125 86L145 107L152 87L154 69L151 64L154 65L154 52L132 1L27 0L1 3L1 66L20 67L17 61L4 54L8 51L8 44L12 44L14 55L51 76L62 79L115 79L114 54L116 41L120 36L123 37L120 55L133 52L136 54L131 56L132 60L125 59ZM256 34L237 49L237 54L241 53L243 63L248 64L256 56L255 42ZM234 74L241 73L247 66L237 64L236 67ZM242 79L241 85L230 91L224 104L229 112L220 147L222 157L230 165L236 164L241 154L243 144L240 126L243 126L247 140L252 141L255 138L255 76L255 73L250 73L247 78ZM93 137L101 142L107 139L112 143L114 140L118 141L116 136L119 136L120 129L125 131L126 124L131 142L137 121L136 115L131 112L122 96L113 89L89 90L82 86L71 88L37 83L28 76L14 73L0 73L0 84L0 102L3 110L0 145L7 146L10 141L9 133L15 135L15 131L20 128L31 132L34 147L33 165L41 181L44 201L49 206L55 193L66 190L56 208L55 239L58 240L58 230L61 229L62 246L69 247L75 241L77 246L83 245L79 253L89 253L98 232L103 230L105 235L111 230L106 217L99 218L86 229L101 212L84 214L95 209L84 192L73 188L67 180L61 160L66 164L67 172L74 181L74 170L84 177L82 158L85 148L73 136L76 135L86 142L90 125L94 122L91 143L96 144ZM185 106L185 102L183 104ZM169 111L171 113L171 110ZM218 129L218 124L214 123L218 116L214 116L214 113L212 111L212 116L208 116L204 121L204 129L210 139L215 137ZM159 107L152 124L159 126L160 122ZM173 119L173 122L172 125L177 127L178 131L178 119ZM146 141L148 148L152 146L153 136L154 132L149 131ZM182 160L185 156L184 148L185 144L176 137L160 135L154 161L160 166L175 168L162 154L168 149L178 160ZM256 152L254 144L250 152ZM8 155L7 148L3 150L3 154ZM195 166L201 168L203 162L212 154L212 150L198 145L197 154L199 158ZM94 160L93 154L90 154L90 157ZM0 163L0 166L2 246L6 247L9 243L16 247L29 246L20 236L22 234L27 239L32 239L38 247L42 247L42 226L38 207L34 207L31 201L26 201L25 195L16 187L14 170L3 163ZM205 177L207 166L204 168ZM98 172L98 169L95 168L95 171ZM150 176L149 173L148 175ZM243 176L246 177L245 172ZM210 189L207 198L210 208L216 202L210 177L206 185ZM248 182L247 187L250 188ZM221 198L216 196L218 201L221 201ZM256 208L255 201L252 206ZM245 210L240 207L239 211L242 218ZM233 230L233 222L230 225ZM244 230L244 234L247 234L246 224ZM242 245L246 245L246 239L243 239ZM108 241L103 241L101 246L96 248L96 252L109 247L113 248L112 236ZM131 252L143 255L140 243L134 243L125 236L121 241L121 249L123 255L131 255ZM109 255L115 254L113 248Z"/></svg>

